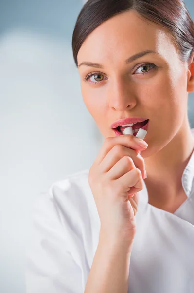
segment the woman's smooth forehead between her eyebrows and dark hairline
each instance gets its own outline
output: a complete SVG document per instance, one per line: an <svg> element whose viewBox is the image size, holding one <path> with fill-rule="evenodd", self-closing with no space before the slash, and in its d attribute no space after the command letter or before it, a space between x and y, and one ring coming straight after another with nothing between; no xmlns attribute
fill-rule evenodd
<svg viewBox="0 0 194 293"><path fill-rule="evenodd" d="M166 28L145 20L135 10L125 11L88 35L78 52L78 64L82 61L114 64L147 49L159 52L167 60L177 54Z"/></svg>

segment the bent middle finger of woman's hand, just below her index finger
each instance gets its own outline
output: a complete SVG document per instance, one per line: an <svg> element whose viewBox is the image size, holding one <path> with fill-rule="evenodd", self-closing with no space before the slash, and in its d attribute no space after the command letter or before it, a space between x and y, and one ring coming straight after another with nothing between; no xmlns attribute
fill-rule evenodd
<svg viewBox="0 0 194 293"><path fill-rule="evenodd" d="M139 153L137 153L133 149L122 146L122 145L113 146L113 148L107 153L106 157L103 159L103 161L99 165L100 171L102 173L108 172L124 156L128 156L128 157L132 158L135 166L141 170L142 176L143 176L143 178L145 178L144 159L141 157L141 155ZM127 163L127 159L125 160L125 162ZM128 163L129 163L129 161L128 161ZM119 166L116 168L120 169L121 167L122 166L119 164ZM128 169L128 171L130 171L130 170L131 170L131 168ZM119 177L121 177L121 176L119 176Z"/></svg>

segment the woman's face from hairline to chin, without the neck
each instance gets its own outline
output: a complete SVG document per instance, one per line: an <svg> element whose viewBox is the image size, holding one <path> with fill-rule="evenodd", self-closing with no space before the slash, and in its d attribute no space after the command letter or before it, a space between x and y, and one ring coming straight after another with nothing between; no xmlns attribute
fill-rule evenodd
<svg viewBox="0 0 194 293"><path fill-rule="evenodd" d="M145 50L157 54L125 63ZM189 70L166 29L134 10L120 13L88 35L78 52L83 62L101 64L78 68L84 102L105 138L116 136L110 126L120 118L149 119L147 157L184 133Z"/></svg>

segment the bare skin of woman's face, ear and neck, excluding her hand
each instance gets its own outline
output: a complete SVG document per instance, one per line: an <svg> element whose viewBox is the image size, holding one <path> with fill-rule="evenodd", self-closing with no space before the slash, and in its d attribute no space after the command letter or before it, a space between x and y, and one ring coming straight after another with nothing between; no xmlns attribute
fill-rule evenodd
<svg viewBox="0 0 194 293"><path fill-rule="evenodd" d="M159 54L125 63L144 50ZM194 91L193 58L182 63L170 32L130 10L89 34L78 52L78 65L85 61L103 67L81 65L79 74L84 102L104 138L115 136L110 125L120 118L150 120L144 139L148 147L141 153L149 203L175 212L187 198L181 176L194 150L187 117L188 93ZM95 75L84 80L90 73Z"/></svg>

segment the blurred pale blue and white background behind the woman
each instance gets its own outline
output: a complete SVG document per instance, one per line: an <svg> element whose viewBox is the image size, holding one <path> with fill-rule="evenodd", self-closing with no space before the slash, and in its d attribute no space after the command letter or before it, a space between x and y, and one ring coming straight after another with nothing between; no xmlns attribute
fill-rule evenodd
<svg viewBox="0 0 194 293"><path fill-rule="evenodd" d="M35 197L88 169L103 143L82 100L71 51L83 3L0 1L0 293L25 292ZM193 0L185 3L193 18ZM194 128L194 93L188 109Z"/></svg>

